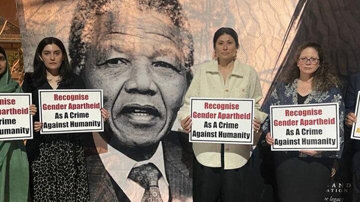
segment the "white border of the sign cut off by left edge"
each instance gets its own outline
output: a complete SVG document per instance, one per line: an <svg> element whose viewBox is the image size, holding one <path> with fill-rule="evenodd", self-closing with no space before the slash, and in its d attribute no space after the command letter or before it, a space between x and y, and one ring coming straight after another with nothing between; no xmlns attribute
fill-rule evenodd
<svg viewBox="0 0 360 202"><path fill-rule="evenodd" d="M6 99L9 98L10 96L25 97L25 98L28 99L27 107L29 107L29 105L32 102L31 93L0 93L0 96L6 97ZM28 119L28 121L29 121L29 135L17 136L17 137L13 137L13 138L0 138L0 141L32 139L33 138L33 133L34 133L34 128L33 128L33 122L32 122L32 115L30 114L30 109L29 109L28 116L29 116L29 119ZM21 120L21 121L25 121L25 120Z"/></svg>

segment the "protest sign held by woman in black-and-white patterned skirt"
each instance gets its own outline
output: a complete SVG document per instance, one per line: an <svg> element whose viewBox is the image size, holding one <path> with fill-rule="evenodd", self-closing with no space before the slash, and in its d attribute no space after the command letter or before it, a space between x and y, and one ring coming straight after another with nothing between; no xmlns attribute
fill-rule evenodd
<svg viewBox="0 0 360 202"><path fill-rule="evenodd" d="M104 131L102 90L39 90L41 134Z"/></svg>

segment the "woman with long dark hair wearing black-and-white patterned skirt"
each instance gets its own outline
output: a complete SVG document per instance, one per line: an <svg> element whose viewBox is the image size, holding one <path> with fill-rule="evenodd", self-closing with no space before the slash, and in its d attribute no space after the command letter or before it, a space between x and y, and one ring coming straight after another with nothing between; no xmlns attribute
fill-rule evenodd
<svg viewBox="0 0 360 202"><path fill-rule="evenodd" d="M34 57L34 73L25 75L22 88L38 104L38 90L85 89L80 76L72 73L63 43L54 37L40 41ZM102 116L108 112L101 109ZM36 131L42 127L34 117ZM30 196L33 202L89 201L86 165L80 134L34 134L26 144L30 164Z"/></svg>

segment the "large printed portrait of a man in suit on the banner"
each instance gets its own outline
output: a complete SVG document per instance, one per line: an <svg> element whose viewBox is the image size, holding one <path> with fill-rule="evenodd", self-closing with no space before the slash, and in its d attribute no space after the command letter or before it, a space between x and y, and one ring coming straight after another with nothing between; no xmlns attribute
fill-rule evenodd
<svg viewBox="0 0 360 202"><path fill-rule="evenodd" d="M81 0L74 13L72 68L87 88L103 89L111 112L105 131L94 135L95 155L87 157L91 201L144 200L146 189L130 174L149 163L160 173L162 201L192 201L179 133L170 132L193 64L192 36L179 2Z"/></svg>

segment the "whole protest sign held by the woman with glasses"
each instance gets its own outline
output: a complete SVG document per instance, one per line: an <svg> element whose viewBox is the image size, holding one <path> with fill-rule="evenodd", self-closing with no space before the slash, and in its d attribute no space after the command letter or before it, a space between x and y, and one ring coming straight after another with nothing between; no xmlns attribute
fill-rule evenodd
<svg viewBox="0 0 360 202"><path fill-rule="evenodd" d="M339 151L339 103L270 107L273 151Z"/></svg>

